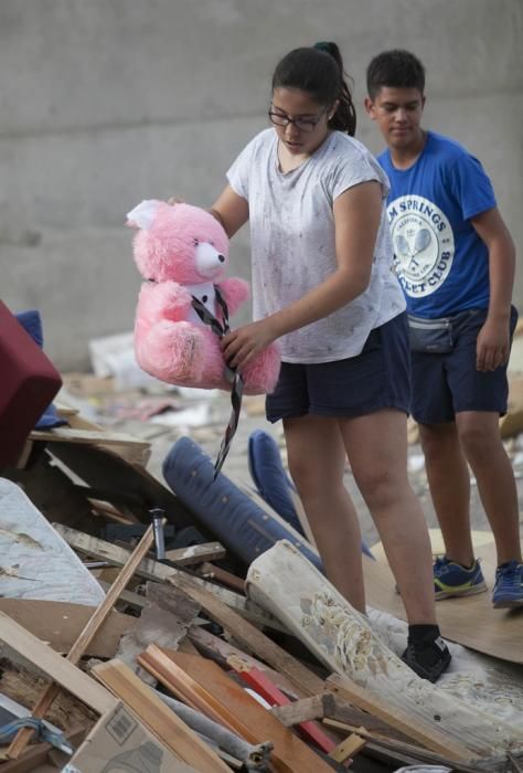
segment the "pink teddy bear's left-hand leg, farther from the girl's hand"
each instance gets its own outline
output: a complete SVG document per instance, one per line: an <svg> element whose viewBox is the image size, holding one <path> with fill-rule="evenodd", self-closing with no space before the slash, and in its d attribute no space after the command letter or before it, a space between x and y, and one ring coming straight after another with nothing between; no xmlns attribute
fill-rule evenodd
<svg viewBox="0 0 523 773"><path fill-rule="evenodd" d="M162 320L136 339L137 362L168 383L193 383L205 369L205 331L191 322Z"/></svg>

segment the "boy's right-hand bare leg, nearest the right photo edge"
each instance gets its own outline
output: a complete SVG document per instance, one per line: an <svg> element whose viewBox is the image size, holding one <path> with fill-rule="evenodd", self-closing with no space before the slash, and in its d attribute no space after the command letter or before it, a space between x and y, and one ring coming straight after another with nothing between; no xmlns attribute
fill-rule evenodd
<svg viewBox="0 0 523 773"><path fill-rule="evenodd" d="M498 563L521 562L517 489L500 437L498 413L463 411L456 416L463 453L494 536Z"/></svg>

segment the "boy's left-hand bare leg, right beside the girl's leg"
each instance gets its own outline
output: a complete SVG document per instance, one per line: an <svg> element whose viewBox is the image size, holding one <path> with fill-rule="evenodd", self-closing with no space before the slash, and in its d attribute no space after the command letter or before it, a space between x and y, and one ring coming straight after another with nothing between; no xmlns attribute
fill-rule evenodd
<svg viewBox="0 0 523 773"><path fill-rule="evenodd" d="M456 424L420 424L428 486L448 559L471 566L470 476Z"/></svg>

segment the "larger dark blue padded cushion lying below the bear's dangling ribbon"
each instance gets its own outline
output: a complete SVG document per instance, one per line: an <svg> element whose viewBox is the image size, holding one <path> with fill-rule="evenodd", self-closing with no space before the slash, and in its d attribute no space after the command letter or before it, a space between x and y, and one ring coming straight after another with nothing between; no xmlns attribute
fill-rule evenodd
<svg viewBox="0 0 523 773"><path fill-rule="evenodd" d="M177 497L207 531L247 565L275 542L287 539L322 569L319 557L301 534L263 510L223 473L213 480L212 459L190 437L174 443L162 469Z"/></svg>

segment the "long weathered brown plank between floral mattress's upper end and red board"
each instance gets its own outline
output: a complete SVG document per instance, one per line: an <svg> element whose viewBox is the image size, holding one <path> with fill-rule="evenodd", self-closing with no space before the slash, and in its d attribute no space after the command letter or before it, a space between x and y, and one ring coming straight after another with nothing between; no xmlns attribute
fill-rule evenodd
<svg viewBox="0 0 523 773"><path fill-rule="evenodd" d="M323 691L323 680L306 666L275 644L248 621L243 620L236 612L194 582L195 578L185 575L169 580L181 587L194 601L201 604L207 615L226 628L234 638L248 647L257 657L268 663L273 668L285 674L305 695L316 695Z"/></svg>

